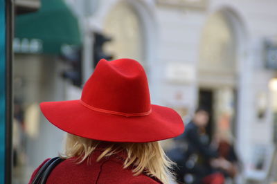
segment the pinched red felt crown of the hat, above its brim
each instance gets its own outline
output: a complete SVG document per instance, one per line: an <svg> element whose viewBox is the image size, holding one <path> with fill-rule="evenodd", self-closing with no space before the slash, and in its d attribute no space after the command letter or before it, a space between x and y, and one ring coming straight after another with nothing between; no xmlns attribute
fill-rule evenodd
<svg viewBox="0 0 277 184"><path fill-rule="evenodd" d="M89 107L118 113L151 110L148 80L143 66L134 59L100 59L84 84L81 100Z"/></svg>

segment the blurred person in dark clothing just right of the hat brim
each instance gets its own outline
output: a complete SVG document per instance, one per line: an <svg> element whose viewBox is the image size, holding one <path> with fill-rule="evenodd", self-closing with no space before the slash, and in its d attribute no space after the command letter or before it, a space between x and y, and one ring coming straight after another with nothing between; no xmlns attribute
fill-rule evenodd
<svg viewBox="0 0 277 184"><path fill-rule="evenodd" d="M207 111L197 109L193 120L186 125L184 134L176 139L177 148L169 154L179 167L176 169L179 183L202 183L205 176L214 172L210 162L218 155L217 150L209 146L205 131L208 119Z"/></svg>

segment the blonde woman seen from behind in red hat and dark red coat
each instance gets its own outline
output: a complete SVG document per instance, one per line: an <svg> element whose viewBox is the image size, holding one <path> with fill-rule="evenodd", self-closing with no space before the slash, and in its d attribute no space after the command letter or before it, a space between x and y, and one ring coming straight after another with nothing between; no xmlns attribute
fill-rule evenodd
<svg viewBox="0 0 277 184"><path fill-rule="evenodd" d="M172 161L157 141L179 136L184 123L176 111L150 104L139 62L101 59L80 100L43 102L41 109L69 134L62 159L45 160L30 183L40 174L46 183L169 182Z"/></svg>

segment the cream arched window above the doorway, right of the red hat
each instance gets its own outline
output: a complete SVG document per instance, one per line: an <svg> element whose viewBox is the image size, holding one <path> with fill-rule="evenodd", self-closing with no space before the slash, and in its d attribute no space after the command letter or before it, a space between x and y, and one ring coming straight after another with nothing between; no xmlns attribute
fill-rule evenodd
<svg viewBox="0 0 277 184"><path fill-rule="evenodd" d="M235 72L235 35L222 13L217 12L206 21L202 34L200 75L233 75ZM213 73L213 74L212 74Z"/></svg>

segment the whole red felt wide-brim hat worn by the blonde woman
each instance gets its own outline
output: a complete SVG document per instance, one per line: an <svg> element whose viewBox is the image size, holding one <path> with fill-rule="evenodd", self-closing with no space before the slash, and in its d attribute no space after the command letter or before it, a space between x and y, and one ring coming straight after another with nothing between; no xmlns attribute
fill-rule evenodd
<svg viewBox="0 0 277 184"><path fill-rule="evenodd" d="M44 116L76 136L110 142L152 142L184 132L179 114L150 104L145 71L133 59L101 59L80 100L42 102Z"/></svg>

